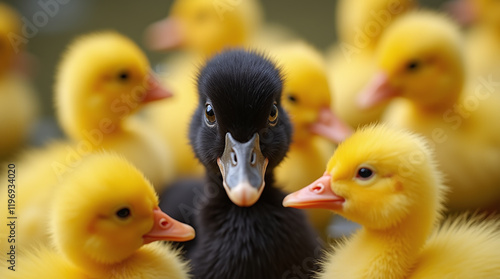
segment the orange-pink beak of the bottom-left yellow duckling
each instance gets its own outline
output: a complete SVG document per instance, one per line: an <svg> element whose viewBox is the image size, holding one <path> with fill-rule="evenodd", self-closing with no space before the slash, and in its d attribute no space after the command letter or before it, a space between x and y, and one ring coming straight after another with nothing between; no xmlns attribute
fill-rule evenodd
<svg viewBox="0 0 500 279"><path fill-rule="evenodd" d="M194 229L186 224L172 219L158 207L153 210L154 224L151 231L143 235L144 244L153 241L188 241L194 238Z"/></svg>

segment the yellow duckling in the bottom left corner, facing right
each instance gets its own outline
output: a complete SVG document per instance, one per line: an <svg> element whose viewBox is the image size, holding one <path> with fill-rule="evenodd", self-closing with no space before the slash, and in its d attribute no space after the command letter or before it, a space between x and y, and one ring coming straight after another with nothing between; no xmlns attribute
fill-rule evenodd
<svg viewBox="0 0 500 279"><path fill-rule="evenodd" d="M177 251L148 243L191 240L193 228L159 209L152 185L124 158L89 155L54 193L54 247L23 250L2 278L188 278Z"/></svg>

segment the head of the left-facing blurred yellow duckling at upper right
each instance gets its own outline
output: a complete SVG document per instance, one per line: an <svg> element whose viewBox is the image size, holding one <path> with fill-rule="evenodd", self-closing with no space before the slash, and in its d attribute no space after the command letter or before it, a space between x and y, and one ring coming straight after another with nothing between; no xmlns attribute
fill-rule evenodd
<svg viewBox="0 0 500 279"><path fill-rule="evenodd" d="M457 26L442 15L415 12L397 20L378 46L379 72L360 94L359 106L400 96L428 110L449 107L464 83L460 46Z"/></svg>

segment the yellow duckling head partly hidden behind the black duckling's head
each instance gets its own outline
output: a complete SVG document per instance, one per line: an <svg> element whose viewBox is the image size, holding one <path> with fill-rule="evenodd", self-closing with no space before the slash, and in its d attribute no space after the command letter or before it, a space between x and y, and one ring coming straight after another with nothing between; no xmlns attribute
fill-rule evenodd
<svg viewBox="0 0 500 279"><path fill-rule="evenodd" d="M351 129L330 109L331 91L321 55L311 46L297 42L276 51L283 68L283 107L293 124L293 143L319 134L333 142L346 138Z"/></svg>

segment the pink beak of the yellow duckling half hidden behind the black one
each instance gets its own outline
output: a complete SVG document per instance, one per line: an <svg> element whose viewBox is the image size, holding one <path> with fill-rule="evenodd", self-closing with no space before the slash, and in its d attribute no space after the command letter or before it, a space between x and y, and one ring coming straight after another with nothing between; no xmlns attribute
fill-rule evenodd
<svg viewBox="0 0 500 279"><path fill-rule="evenodd" d="M318 120L309 127L312 133L320 135L334 143L340 143L352 133L352 128L340 119L330 108L319 112Z"/></svg>

